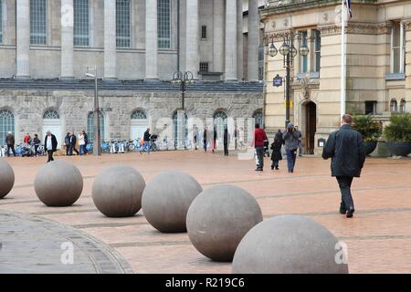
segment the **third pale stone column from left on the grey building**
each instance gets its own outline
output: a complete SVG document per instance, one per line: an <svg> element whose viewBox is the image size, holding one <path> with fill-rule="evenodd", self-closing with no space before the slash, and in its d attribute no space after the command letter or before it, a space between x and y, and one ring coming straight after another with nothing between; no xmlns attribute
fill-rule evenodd
<svg viewBox="0 0 411 292"><path fill-rule="evenodd" d="M104 79L116 78L116 0L104 0Z"/></svg>

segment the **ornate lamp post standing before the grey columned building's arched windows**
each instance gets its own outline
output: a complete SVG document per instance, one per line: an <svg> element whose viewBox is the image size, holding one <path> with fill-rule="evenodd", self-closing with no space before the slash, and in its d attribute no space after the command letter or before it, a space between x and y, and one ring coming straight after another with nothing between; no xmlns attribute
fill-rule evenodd
<svg viewBox="0 0 411 292"><path fill-rule="evenodd" d="M181 94L181 109L177 110L177 140L180 141L179 147L181 149L185 149L184 143L184 136L185 136L185 129L184 129L184 120L185 120L185 108L184 108L184 101L185 101L185 89L187 86L194 85L195 80L193 77L193 73L190 71L185 72L174 72L173 75L173 84L180 87L180 94Z"/></svg>

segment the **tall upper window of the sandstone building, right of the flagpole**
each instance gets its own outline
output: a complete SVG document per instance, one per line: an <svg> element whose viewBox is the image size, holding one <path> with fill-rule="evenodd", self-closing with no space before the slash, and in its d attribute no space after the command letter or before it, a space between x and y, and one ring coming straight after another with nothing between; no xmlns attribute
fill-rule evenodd
<svg viewBox="0 0 411 292"><path fill-rule="evenodd" d="M404 24L394 22L391 29L391 73L405 73L406 30Z"/></svg>

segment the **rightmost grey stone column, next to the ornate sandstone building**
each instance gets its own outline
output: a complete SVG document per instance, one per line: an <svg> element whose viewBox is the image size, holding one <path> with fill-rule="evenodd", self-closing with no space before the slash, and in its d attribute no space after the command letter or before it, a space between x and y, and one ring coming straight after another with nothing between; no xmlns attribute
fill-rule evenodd
<svg viewBox="0 0 411 292"><path fill-rule="evenodd" d="M258 0L248 0L248 81L258 81Z"/></svg>

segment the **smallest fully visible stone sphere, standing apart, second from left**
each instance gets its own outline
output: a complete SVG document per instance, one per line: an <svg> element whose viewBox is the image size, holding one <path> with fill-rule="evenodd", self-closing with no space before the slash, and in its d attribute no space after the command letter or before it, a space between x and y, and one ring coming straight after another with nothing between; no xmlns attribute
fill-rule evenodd
<svg viewBox="0 0 411 292"><path fill-rule="evenodd" d="M70 206L83 191L83 177L73 164L48 162L37 172L35 191L38 199L47 206Z"/></svg>

